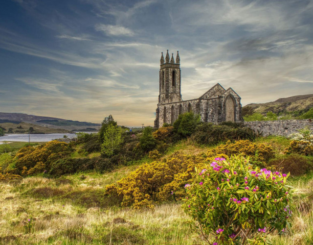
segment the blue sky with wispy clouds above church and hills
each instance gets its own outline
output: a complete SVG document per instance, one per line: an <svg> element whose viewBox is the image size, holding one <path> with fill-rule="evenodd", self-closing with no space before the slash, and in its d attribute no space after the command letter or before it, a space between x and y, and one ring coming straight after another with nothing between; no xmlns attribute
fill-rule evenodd
<svg viewBox="0 0 313 245"><path fill-rule="evenodd" d="M183 99L218 82L243 105L313 94L313 1L4 0L0 111L153 125L166 49Z"/></svg>

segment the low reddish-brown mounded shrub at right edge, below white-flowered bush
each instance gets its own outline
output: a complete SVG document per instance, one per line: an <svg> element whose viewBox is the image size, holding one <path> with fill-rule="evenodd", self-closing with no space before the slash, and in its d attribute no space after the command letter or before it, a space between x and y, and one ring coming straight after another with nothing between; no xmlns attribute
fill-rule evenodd
<svg viewBox="0 0 313 245"><path fill-rule="evenodd" d="M270 159L268 166L273 166L279 171L290 172L293 176L298 176L313 170L313 165L307 157L294 153L290 155L280 155Z"/></svg>

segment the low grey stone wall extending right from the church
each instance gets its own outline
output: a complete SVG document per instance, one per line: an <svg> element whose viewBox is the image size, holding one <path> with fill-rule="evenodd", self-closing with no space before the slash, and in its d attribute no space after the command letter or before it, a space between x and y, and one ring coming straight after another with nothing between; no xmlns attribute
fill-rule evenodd
<svg viewBox="0 0 313 245"><path fill-rule="evenodd" d="M313 131L313 120L277 120L277 121L254 121L245 122L247 127L250 127L255 132L262 133L263 136L280 135L288 136L292 133L297 133L299 129L308 126Z"/></svg>

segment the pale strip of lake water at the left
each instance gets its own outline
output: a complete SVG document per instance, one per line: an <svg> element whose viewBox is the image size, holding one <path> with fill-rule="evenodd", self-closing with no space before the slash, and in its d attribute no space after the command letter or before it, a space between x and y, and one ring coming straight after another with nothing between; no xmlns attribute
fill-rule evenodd
<svg viewBox="0 0 313 245"><path fill-rule="evenodd" d="M30 142L47 142L63 138L66 135L69 139L76 137L76 134L30 134ZM28 142L28 134L7 134L0 137L0 144L3 141Z"/></svg>

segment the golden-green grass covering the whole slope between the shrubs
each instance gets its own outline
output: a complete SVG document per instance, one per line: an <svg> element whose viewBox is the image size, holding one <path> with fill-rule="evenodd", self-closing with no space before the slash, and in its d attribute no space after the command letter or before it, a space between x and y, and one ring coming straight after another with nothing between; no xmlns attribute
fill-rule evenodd
<svg viewBox="0 0 313 245"><path fill-rule="evenodd" d="M280 137L260 138L257 142L271 144L276 154L289 144ZM197 154L207 149L181 141L162 158L177 150ZM104 197L106 185L149 161L145 158L103 174L84 172L55 179L33 176L0 183L0 244L205 244L190 229L191 220L179 202L156 204L155 210L134 210L115 206ZM290 177L289 184L295 188L293 227L285 235L271 234L268 241L273 245L313 244L313 173Z"/></svg>

